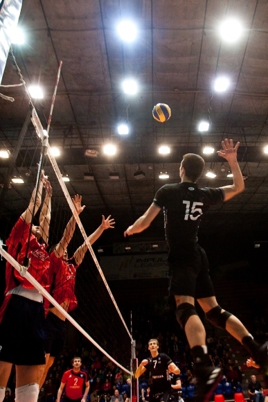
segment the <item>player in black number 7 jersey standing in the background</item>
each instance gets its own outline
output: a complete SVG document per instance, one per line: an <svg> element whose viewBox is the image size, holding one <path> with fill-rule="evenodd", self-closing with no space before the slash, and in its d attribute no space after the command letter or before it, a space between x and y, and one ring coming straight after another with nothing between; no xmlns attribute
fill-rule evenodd
<svg viewBox="0 0 268 402"><path fill-rule="evenodd" d="M150 385L150 402L167 402L172 394L172 390L181 388L181 380L177 380L176 385L170 383L170 373L179 374L179 368L165 353L158 353L159 343L157 339L150 339L148 349L151 356L144 359L136 369L135 377L141 374L151 373L152 385Z"/></svg>

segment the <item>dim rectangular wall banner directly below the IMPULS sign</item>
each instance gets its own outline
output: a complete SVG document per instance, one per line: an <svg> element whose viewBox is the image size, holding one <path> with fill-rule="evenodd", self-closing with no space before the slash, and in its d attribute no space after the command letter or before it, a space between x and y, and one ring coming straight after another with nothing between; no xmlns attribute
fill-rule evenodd
<svg viewBox="0 0 268 402"><path fill-rule="evenodd" d="M101 256L100 267L107 281L166 278L167 254Z"/></svg>

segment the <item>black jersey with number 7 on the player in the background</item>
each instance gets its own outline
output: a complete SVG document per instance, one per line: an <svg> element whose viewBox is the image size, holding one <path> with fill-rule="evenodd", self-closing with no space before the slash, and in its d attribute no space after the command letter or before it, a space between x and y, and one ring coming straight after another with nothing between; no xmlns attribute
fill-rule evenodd
<svg viewBox="0 0 268 402"><path fill-rule="evenodd" d="M166 391L171 390L170 375L168 372L168 365L172 362L166 353L159 353L157 357L147 359L148 365L144 366L150 377L152 378L151 392L152 396L158 396Z"/></svg>

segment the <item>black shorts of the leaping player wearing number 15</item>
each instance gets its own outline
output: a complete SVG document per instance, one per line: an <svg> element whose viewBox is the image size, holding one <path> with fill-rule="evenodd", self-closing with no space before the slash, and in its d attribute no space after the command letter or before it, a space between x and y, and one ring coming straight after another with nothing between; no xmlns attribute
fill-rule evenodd
<svg viewBox="0 0 268 402"><path fill-rule="evenodd" d="M206 253L197 243L170 252L170 295L191 296L195 299L215 296L208 272Z"/></svg>

